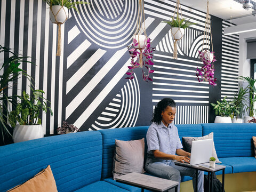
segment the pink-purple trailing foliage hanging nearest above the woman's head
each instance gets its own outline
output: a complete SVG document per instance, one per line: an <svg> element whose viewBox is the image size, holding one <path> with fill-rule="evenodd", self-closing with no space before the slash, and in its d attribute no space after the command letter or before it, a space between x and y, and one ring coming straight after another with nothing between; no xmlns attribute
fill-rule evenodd
<svg viewBox="0 0 256 192"><path fill-rule="evenodd" d="M154 70L150 69L150 66L154 65L154 63L150 59L153 58L152 52L155 51L155 47L154 48L151 47L150 41L151 39L147 37L145 47L142 49L135 49L134 47L138 46L138 42L136 41L135 38L133 38L133 44L132 44L133 48L129 50L129 54L131 55L131 66L128 66L130 71L126 73L130 77L126 77L126 79L132 80L134 78L133 69L141 67L143 81L146 81L146 82L148 82L147 80L153 81L149 77L149 74L154 72ZM137 62L138 59L139 59L139 62ZM145 66L147 73L143 71L143 66Z"/></svg>

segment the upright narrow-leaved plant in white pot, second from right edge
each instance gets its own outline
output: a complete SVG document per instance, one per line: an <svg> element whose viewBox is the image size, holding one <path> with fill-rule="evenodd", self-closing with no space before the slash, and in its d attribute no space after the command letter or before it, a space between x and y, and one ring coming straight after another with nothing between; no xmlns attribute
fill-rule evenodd
<svg viewBox="0 0 256 192"><path fill-rule="evenodd" d="M232 123L243 123L243 117L245 114L245 103L246 103L247 89L243 86L239 87L237 93L234 93L232 101L234 102L234 108L231 111Z"/></svg>

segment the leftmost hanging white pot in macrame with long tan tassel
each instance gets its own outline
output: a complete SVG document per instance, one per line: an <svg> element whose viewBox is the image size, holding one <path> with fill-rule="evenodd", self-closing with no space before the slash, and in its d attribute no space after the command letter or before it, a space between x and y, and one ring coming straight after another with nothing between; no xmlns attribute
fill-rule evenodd
<svg viewBox="0 0 256 192"><path fill-rule="evenodd" d="M66 9L66 10L68 10L68 9ZM57 56L60 56L60 53L61 53L61 26L60 25L65 23L67 21L67 19L68 19L68 13L66 12L66 10L64 9L64 6L63 6L63 0L62 0L62 5L61 5L60 9L57 10L57 13L55 13L56 11L52 10L52 4L50 6L50 11L51 11L51 13L53 14L53 16L55 18L55 21L52 21L52 20L51 21L54 24L58 25L58 47L57 47L57 53L56 53ZM58 14L60 14L60 13L65 13L64 15L66 16L66 19L64 21L62 21L62 22L59 21L59 19L58 19Z"/></svg>

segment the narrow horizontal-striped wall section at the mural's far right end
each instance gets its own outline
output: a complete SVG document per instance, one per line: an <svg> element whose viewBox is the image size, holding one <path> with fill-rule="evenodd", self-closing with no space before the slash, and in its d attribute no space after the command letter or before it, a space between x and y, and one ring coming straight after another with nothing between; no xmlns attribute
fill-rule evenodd
<svg viewBox="0 0 256 192"><path fill-rule="evenodd" d="M221 99L238 92L239 35L224 35L227 21L222 22Z"/></svg>

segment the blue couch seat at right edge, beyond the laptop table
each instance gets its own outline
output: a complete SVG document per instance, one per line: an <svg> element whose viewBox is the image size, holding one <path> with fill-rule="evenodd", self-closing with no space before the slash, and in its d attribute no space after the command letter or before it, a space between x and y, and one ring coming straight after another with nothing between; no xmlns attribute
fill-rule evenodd
<svg viewBox="0 0 256 192"><path fill-rule="evenodd" d="M223 164L232 166L233 173L256 171L255 157L226 157L221 158L220 161Z"/></svg>

